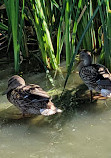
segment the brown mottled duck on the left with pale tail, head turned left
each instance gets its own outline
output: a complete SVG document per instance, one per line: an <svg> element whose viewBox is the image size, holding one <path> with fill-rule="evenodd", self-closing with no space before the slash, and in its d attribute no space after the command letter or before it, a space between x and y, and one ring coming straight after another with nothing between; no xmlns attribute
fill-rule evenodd
<svg viewBox="0 0 111 158"><path fill-rule="evenodd" d="M7 94L9 102L19 108L23 115L53 115L62 112L54 106L49 95L39 85L26 85L18 75L8 80L8 88L3 94Z"/></svg>

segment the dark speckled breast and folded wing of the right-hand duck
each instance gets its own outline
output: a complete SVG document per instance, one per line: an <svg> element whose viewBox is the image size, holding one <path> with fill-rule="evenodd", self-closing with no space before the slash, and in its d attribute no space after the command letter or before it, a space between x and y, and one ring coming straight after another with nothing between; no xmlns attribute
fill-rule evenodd
<svg viewBox="0 0 111 158"><path fill-rule="evenodd" d="M81 68L79 75L89 89L95 89L96 86L99 86L99 89L110 86L111 89L111 74L108 69L101 64L84 66Z"/></svg>

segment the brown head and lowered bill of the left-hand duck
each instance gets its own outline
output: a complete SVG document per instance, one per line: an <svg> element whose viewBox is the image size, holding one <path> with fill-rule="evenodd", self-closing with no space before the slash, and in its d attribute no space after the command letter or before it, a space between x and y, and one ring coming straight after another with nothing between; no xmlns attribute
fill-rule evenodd
<svg viewBox="0 0 111 158"><path fill-rule="evenodd" d="M23 86L25 86L24 79L18 75L14 75L8 80L8 88L5 92L3 92L2 95L7 94L9 91L11 91L17 87L23 87Z"/></svg>

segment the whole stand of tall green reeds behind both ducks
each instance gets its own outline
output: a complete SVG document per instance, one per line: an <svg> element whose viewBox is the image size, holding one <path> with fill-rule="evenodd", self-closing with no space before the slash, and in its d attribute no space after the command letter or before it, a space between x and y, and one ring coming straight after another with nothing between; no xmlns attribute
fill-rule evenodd
<svg viewBox="0 0 111 158"><path fill-rule="evenodd" d="M68 78L75 56L81 48L93 51L101 46L100 60L111 69L111 4L109 1L4 0L4 2L8 16L8 30L13 37L16 72L19 71L24 11L25 18L35 29L42 60L48 69L60 70L62 53L66 58ZM21 10L19 2L22 4ZM0 27L7 29L3 23L0 23ZM102 30L101 36L99 30Z"/></svg>

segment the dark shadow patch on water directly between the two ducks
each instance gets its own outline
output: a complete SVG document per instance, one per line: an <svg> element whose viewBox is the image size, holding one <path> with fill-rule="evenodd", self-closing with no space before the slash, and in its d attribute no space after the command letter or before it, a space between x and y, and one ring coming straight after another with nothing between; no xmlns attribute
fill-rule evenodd
<svg viewBox="0 0 111 158"><path fill-rule="evenodd" d="M53 101L55 105L60 104L65 111L77 110L77 108L84 110L92 105L90 103L90 94L87 93L87 90L87 86L81 84L71 90L65 90L60 96L55 96ZM96 103L96 100L93 102Z"/></svg>

